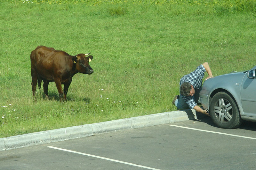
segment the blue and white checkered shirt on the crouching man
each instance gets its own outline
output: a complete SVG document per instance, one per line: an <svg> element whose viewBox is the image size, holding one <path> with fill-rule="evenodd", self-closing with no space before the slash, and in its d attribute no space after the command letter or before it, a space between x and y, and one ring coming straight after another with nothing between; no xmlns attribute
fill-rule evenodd
<svg viewBox="0 0 256 170"><path fill-rule="evenodd" d="M195 71L183 76L180 79L180 85L182 85L182 83L184 83L184 82L188 82L191 85L193 85L194 89L199 89L203 83L205 71L206 70L205 70L203 64L199 65ZM181 97L188 104L190 109L193 109L197 105L196 102L193 100L193 96L181 95Z"/></svg>

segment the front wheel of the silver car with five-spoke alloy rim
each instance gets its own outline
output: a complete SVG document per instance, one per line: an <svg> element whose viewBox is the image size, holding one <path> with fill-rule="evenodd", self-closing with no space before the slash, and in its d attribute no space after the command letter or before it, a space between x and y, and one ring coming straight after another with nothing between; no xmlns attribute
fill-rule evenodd
<svg viewBox="0 0 256 170"><path fill-rule="evenodd" d="M218 92L213 96L210 115L212 121L220 128L234 129L242 123L236 102L226 92Z"/></svg>

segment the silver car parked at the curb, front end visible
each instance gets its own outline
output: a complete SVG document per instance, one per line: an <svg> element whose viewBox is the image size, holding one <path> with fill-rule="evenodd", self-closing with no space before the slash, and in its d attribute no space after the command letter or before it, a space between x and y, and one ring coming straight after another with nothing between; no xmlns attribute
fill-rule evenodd
<svg viewBox="0 0 256 170"><path fill-rule="evenodd" d="M220 128L234 129L242 120L256 122L256 66L206 80L199 93L204 109Z"/></svg>

